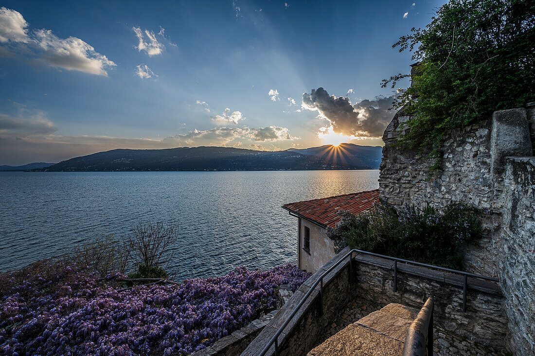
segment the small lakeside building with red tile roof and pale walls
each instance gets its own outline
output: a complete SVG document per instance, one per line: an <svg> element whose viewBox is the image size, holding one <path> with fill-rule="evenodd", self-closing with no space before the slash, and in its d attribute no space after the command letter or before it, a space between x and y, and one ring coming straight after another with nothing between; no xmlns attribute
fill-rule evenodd
<svg viewBox="0 0 535 356"><path fill-rule="evenodd" d="M326 229L327 226L334 228L340 221L339 210L357 215L369 210L378 200L379 190L376 189L284 204L282 208L297 217L299 268L314 273L334 257L334 244L327 237Z"/></svg>

